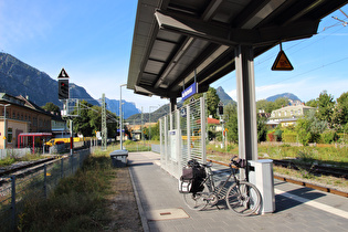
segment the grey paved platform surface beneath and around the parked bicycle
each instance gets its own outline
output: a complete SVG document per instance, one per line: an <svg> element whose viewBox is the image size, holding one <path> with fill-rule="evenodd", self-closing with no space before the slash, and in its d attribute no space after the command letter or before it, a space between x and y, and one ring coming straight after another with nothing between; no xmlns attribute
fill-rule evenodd
<svg viewBox="0 0 348 232"><path fill-rule="evenodd" d="M155 152L130 152L128 166L145 231L348 231L348 199L274 180L275 211L239 217L224 204L190 210Z"/></svg>

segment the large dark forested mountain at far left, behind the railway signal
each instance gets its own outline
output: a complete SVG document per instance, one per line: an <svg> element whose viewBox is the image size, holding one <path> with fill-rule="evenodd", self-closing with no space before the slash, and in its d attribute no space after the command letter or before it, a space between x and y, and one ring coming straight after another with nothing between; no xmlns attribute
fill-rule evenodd
<svg viewBox="0 0 348 232"><path fill-rule="evenodd" d="M0 53L0 93L29 96L39 106L49 102L62 106L57 98L57 81L7 53ZM98 105L83 87L74 83L70 83L70 95L71 98Z"/></svg>

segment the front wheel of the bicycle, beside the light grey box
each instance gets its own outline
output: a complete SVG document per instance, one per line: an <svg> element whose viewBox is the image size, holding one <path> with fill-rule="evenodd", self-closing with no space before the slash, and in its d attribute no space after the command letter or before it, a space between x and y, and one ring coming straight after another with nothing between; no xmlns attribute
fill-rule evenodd
<svg viewBox="0 0 348 232"><path fill-rule="evenodd" d="M251 215L260 208L261 194L254 184L240 181L230 187L225 200L236 214Z"/></svg>

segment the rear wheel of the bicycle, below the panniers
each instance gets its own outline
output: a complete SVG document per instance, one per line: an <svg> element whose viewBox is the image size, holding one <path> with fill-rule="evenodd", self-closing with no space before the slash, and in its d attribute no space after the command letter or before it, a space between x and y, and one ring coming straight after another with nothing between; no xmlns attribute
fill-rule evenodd
<svg viewBox="0 0 348 232"><path fill-rule="evenodd" d="M209 188L207 183L203 183L204 189L200 192L192 193L182 193L182 198L184 203L190 208L191 210L203 210L208 204L208 197L209 197Z"/></svg>

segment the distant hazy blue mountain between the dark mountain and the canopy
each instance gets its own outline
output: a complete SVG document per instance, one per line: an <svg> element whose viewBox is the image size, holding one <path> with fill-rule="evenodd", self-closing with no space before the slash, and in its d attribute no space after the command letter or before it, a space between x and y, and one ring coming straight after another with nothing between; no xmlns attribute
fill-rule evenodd
<svg viewBox="0 0 348 232"><path fill-rule="evenodd" d="M139 114L141 113L135 105L135 103L129 103L126 101L123 102L123 113L124 113L124 118L128 118L131 115ZM102 99L98 99L98 103L102 105ZM106 103L106 109L110 110L112 113L115 113L117 116L119 116L119 101L118 99L108 99L105 97L105 103Z"/></svg>

